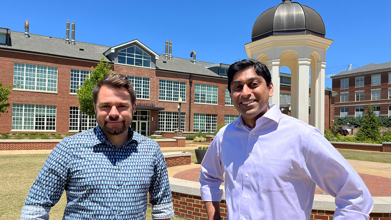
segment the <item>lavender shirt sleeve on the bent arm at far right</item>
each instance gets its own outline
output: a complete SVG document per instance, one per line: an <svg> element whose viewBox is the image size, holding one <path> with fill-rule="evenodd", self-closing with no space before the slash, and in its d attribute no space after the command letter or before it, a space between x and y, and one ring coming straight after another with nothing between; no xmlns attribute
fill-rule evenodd
<svg viewBox="0 0 391 220"><path fill-rule="evenodd" d="M334 146L314 129L304 149L310 178L335 197L334 220L369 220L373 198L361 177Z"/></svg>

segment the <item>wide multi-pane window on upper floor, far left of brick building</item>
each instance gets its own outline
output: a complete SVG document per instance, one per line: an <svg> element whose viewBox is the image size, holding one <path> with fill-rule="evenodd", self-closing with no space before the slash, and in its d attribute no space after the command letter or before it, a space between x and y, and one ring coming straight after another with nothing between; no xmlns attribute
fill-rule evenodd
<svg viewBox="0 0 391 220"><path fill-rule="evenodd" d="M14 84L25 90L57 92L57 67L14 63Z"/></svg>

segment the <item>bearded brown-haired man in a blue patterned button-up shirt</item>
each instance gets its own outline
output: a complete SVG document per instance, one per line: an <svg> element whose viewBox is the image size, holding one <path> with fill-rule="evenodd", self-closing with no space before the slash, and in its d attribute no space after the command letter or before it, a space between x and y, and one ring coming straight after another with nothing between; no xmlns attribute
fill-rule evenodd
<svg viewBox="0 0 391 220"><path fill-rule="evenodd" d="M93 89L98 126L66 137L45 161L20 219L49 219L66 191L63 220L174 218L165 159L156 141L129 127L136 108L131 82L109 74Z"/></svg>

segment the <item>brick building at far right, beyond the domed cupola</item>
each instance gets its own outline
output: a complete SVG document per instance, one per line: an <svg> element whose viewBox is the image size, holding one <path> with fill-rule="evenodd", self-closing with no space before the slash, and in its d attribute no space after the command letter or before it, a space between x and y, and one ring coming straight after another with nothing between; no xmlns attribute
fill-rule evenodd
<svg viewBox="0 0 391 220"><path fill-rule="evenodd" d="M335 117L358 117L373 106L379 117L391 116L391 62L371 63L335 74L332 89L335 97Z"/></svg>

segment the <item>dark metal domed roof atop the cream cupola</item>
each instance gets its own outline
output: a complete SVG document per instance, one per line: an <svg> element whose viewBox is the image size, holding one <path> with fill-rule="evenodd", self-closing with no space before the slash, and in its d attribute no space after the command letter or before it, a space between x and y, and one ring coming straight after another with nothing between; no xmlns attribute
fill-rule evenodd
<svg viewBox="0 0 391 220"><path fill-rule="evenodd" d="M251 41L272 35L313 34L325 37L322 17L312 8L298 2L283 0L264 11L255 21Z"/></svg>

